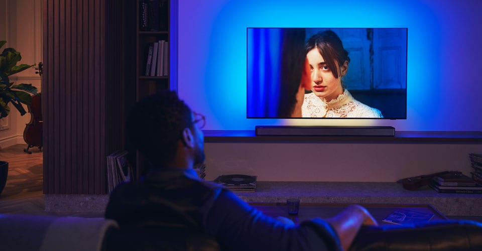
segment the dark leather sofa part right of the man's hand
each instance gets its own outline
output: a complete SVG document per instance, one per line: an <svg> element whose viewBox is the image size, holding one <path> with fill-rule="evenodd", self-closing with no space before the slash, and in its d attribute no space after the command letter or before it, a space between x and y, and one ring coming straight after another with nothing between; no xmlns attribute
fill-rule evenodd
<svg viewBox="0 0 482 251"><path fill-rule="evenodd" d="M350 250L482 250L482 224L469 220L363 226Z"/></svg>

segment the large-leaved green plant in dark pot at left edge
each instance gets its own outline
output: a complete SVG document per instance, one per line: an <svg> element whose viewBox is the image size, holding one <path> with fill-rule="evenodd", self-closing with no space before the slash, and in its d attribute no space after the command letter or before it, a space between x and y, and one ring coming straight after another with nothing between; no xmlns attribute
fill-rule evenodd
<svg viewBox="0 0 482 251"><path fill-rule="evenodd" d="M0 41L2 48L7 41ZM10 82L10 76L24 71L33 65L17 63L22 59L20 52L14 48L6 48L0 54L0 118L10 114L9 103L11 103L20 112L20 115L27 113L23 104L30 105L32 102L31 94L37 94L37 87L32 84L16 84ZM23 103L23 104L22 104ZM9 163L0 160L0 194L4 190L7 183L9 171Z"/></svg>

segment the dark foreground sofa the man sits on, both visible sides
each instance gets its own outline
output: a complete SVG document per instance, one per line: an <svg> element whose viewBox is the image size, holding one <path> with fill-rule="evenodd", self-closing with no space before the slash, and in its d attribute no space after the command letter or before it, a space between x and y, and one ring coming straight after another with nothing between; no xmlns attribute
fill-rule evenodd
<svg viewBox="0 0 482 251"><path fill-rule="evenodd" d="M0 214L1 250L219 250L182 226L120 229L104 218ZM362 227L350 250L482 250L482 224L444 220Z"/></svg>

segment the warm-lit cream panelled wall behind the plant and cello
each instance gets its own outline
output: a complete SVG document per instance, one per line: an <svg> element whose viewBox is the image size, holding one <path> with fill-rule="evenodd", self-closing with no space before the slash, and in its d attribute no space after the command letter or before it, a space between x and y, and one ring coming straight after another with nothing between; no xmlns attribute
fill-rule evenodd
<svg viewBox="0 0 482 251"><path fill-rule="evenodd" d="M1 48L15 48L21 52L19 64L38 64L42 61L42 5L37 0L0 0L0 40L7 44ZM41 91L40 76L35 67L13 75L15 83L31 83ZM11 113L0 122L0 148L26 144L23 139L25 124L30 114L21 116L12 105ZM27 108L27 107L25 107Z"/></svg>

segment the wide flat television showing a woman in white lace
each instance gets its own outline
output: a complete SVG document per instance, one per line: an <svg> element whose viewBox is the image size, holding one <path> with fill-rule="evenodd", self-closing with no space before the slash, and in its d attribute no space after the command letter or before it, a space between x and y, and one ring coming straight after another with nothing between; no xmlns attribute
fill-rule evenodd
<svg viewBox="0 0 482 251"><path fill-rule="evenodd" d="M248 28L248 118L407 116L407 28Z"/></svg>

